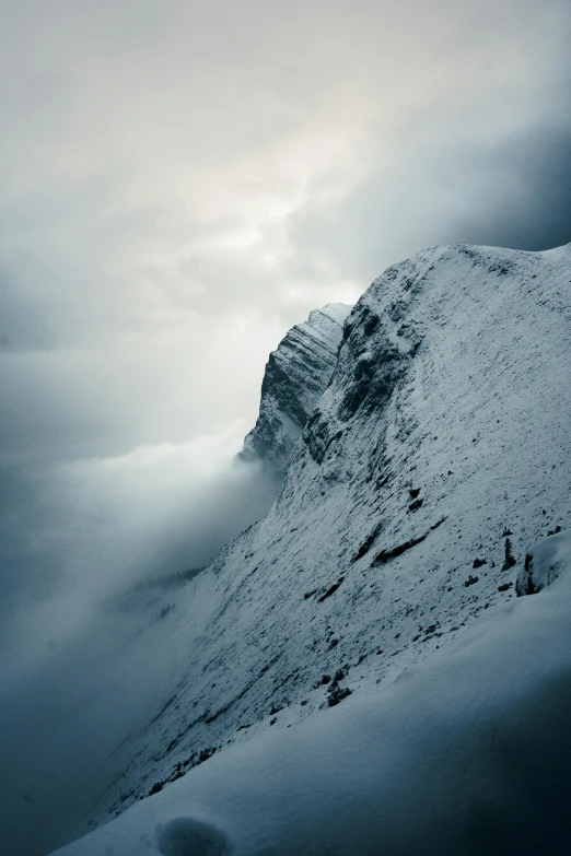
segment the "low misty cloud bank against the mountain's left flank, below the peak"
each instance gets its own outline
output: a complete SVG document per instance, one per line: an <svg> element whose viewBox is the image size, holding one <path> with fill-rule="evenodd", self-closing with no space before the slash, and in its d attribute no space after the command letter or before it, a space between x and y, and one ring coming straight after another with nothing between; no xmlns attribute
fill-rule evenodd
<svg viewBox="0 0 571 856"><path fill-rule="evenodd" d="M277 484L233 462L243 433L235 423L13 482L0 676L8 852L39 856L77 832L162 668L161 615L190 568L267 513Z"/></svg>

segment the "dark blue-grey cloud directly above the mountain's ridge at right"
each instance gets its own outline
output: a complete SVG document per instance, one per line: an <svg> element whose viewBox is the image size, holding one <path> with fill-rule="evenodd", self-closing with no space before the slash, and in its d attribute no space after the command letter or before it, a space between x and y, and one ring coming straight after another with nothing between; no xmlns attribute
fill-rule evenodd
<svg viewBox="0 0 571 856"><path fill-rule="evenodd" d="M569 78L571 92L571 74ZM505 137L410 146L396 172L368 175L338 207L292 222L307 263L335 246L339 275L364 281L435 244L544 250L571 241L571 98Z"/></svg>

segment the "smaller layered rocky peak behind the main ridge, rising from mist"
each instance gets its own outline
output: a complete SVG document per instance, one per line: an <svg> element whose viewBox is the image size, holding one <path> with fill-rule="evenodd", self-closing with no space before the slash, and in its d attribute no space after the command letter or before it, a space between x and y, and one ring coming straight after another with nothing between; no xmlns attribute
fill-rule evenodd
<svg viewBox="0 0 571 856"><path fill-rule="evenodd" d="M342 303L315 309L271 352L261 384L259 415L240 458L261 460L278 473L286 471L295 443L330 380L350 310Z"/></svg>

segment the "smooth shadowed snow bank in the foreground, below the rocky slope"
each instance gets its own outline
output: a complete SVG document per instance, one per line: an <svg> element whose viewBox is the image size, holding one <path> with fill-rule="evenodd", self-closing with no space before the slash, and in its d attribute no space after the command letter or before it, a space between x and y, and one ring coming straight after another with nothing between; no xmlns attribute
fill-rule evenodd
<svg viewBox="0 0 571 856"><path fill-rule="evenodd" d="M538 565L553 544L549 589L388 689L221 751L59 856L567 854L571 531Z"/></svg>

